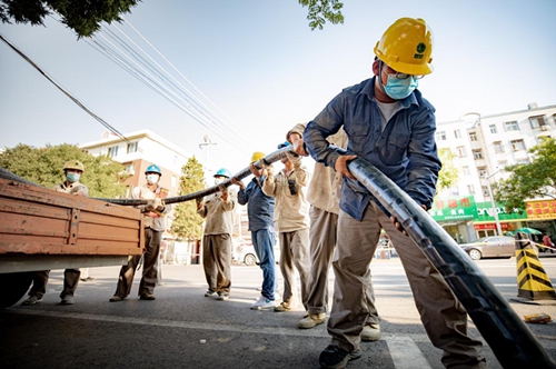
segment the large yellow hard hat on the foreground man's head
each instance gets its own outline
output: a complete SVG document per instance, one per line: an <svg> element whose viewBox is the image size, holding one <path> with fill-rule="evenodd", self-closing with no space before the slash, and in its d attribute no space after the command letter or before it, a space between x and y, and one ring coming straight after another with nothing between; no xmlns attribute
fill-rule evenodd
<svg viewBox="0 0 556 369"><path fill-rule="evenodd" d="M375 47L375 54L400 73L425 76L433 72L433 31L420 19L395 21Z"/></svg>

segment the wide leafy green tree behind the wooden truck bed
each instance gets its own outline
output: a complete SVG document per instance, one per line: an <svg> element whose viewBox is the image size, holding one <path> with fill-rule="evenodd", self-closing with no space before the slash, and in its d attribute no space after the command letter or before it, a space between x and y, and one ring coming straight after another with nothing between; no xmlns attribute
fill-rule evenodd
<svg viewBox="0 0 556 369"><path fill-rule="evenodd" d="M117 198L126 195L123 181L129 174L125 173L121 163L106 156L93 157L75 144L47 144L37 149L20 143L0 153L0 168L36 184L52 188L64 180L63 164L73 159L85 166L80 182L89 188L89 197Z"/></svg>

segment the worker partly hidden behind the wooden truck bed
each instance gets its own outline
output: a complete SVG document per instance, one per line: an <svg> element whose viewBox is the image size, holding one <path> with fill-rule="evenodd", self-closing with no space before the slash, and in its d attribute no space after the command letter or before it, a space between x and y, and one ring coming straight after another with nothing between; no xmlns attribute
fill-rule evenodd
<svg viewBox="0 0 556 369"><path fill-rule="evenodd" d="M79 182L85 172L85 166L79 160L70 160L63 166L63 174L66 180L56 184L52 189L58 192L71 193L76 196L89 196L87 186ZM47 291L47 283L50 276L50 270L36 271L33 285L29 291L29 298L21 305L36 305L42 301L42 297ZM63 271L63 290L60 293L60 305L73 305L73 295L79 285L79 269L66 269Z"/></svg>

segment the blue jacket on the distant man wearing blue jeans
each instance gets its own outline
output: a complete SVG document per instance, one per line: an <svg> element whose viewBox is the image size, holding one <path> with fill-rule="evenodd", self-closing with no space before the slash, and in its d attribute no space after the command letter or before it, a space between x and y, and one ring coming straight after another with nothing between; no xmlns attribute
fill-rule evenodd
<svg viewBox="0 0 556 369"><path fill-rule="evenodd" d="M247 203L247 217L249 218L249 230L256 232L261 229L274 227L275 198L262 192L262 183L266 176L260 177L260 186L257 178L252 178L245 189L238 192L238 202Z"/></svg>

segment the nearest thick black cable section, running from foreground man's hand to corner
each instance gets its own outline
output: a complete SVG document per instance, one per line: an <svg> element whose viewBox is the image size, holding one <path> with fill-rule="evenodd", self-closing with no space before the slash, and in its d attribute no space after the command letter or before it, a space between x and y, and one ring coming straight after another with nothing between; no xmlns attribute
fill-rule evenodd
<svg viewBox="0 0 556 369"><path fill-rule="evenodd" d="M529 328L444 228L366 160L357 158L348 168L443 275L504 368L556 368Z"/></svg>

